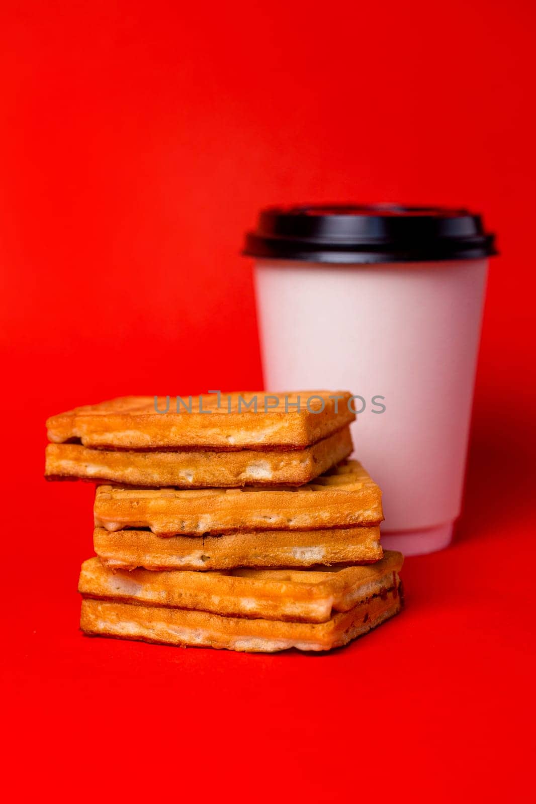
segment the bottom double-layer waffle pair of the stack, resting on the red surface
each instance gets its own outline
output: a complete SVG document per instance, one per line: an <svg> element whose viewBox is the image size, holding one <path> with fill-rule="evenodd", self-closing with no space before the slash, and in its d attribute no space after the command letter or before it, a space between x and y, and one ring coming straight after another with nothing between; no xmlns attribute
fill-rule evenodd
<svg viewBox="0 0 536 804"><path fill-rule="evenodd" d="M400 611L402 561L400 553L386 552L373 566L331 572L138 570L116 576L91 559L80 574L80 628L168 645L267 653L331 650ZM212 610L192 610L202 606ZM317 621L296 621L307 618Z"/></svg>

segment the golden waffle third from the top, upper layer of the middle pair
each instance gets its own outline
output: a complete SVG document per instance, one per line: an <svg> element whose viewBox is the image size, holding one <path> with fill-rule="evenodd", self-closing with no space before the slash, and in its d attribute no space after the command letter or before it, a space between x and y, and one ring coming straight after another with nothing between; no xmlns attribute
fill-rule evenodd
<svg viewBox="0 0 536 804"><path fill-rule="evenodd" d="M359 461L344 461L298 488L122 489L99 486L95 525L149 527L163 536L377 525L381 490Z"/></svg>

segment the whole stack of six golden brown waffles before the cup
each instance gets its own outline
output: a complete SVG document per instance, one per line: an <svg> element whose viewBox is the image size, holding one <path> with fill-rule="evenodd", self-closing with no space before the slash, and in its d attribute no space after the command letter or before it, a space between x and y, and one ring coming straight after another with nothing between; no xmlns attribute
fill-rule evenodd
<svg viewBox="0 0 536 804"><path fill-rule="evenodd" d="M402 605L347 392L125 397L47 421L49 479L97 480L81 628L330 650Z"/></svg>

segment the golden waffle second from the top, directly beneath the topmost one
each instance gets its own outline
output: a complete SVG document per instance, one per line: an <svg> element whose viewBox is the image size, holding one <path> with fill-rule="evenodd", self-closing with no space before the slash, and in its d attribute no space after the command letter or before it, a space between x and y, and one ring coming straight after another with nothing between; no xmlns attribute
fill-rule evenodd
<svg viewBox="0 0 536 804"><path fill-rule="evenodd" d="M349 427L305 449L279 452L137 452L90 449L80 444L49 444L48 478L85 478L131 486L301 485L318 477L352 452Z"/></svg>

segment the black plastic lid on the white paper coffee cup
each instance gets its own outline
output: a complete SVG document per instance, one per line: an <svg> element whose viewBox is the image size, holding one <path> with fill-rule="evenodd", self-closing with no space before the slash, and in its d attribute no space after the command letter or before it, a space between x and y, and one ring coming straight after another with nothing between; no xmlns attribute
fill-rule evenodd
<svg viewBox="0 0 536 804"><path fill-rule="evenodd" d="M348 264L476 260L497 251L480 215L465 209L348 204L262 210L243 253Z"/></svg>

